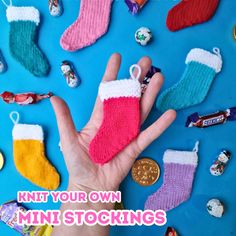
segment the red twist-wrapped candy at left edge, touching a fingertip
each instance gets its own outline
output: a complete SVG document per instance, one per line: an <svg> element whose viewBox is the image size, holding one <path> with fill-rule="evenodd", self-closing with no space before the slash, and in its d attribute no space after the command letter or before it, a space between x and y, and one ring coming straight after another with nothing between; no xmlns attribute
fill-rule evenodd
<svg viewBox="0 0 236 236"><path fill-rule="evenodd" d="M0 94L0 97L2 100L6 103L16 103L18 105L29 105L37 103L43 99L50 98L52 96L52 93L48 94L35 94L35 93L20 93L20 94L14 94L11 92L4 92Z"/></svg>

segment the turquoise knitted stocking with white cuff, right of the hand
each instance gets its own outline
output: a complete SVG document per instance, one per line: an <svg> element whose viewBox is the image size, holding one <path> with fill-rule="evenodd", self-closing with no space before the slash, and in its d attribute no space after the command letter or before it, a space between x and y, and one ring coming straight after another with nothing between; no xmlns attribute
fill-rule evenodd
<svg viewBox="0 0 236 236"><path fill-rule="evenodd" d="M213 53L194 48L188 53L185 63L187 66L180 81L158 98L158 110L180 110L203 102L214 77L222 68L218 48L214 48Z"/></svg>

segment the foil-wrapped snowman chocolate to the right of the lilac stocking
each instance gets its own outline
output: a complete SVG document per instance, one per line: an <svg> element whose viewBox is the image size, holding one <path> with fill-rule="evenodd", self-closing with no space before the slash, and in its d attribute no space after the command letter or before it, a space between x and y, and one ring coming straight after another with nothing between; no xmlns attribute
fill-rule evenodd
<svg viewBox="0 0 236 236"><path fill-rule="evenodd" d="M227 150L222 150L218 158L210 167L211 174L214 176L222 175L230 159L231 153Z"/></svg>

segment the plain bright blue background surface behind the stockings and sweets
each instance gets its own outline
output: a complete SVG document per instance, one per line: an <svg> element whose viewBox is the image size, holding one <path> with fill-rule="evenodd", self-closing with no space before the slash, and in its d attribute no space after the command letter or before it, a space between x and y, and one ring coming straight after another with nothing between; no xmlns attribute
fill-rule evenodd
<svg viewBox="0 0 236 236"><path fill-rule="evenodd" d="M207 114L218 109L226 109L236 105L236 42L232 38L232 28L236 23L236 1L220 2L215 16L207 23L187 28L179 32L170 32L165 25L167 12L177 1L149 1L138 16L128 13L124 1L114 1L108 33L94 45L76 53L63 51L59 39L63 31L77 17L78 0L64 0L64 14L59 18L49 15L47 1L14 1L15 5L33 5L41 12L39 45L47 55L51 72L46 78L36 78L18 64L9 53L9 24L5 16L5 7L0 6L0 48L8 63L7 73L0 75L1 92L8 90L15 93L34 91L38 93L52 91L64 98L71 109L76 127L82 128L90 117L97 87L102 78L109 56L117 51L122 54L123 63L119 77L127 77L128 69L140 57L147 55L153 64L160 67L165 75L163 89L177 82L184 69L185 57L195 47L212 50L221 49L224 66L216 77L209 95L203 104L178 112L178 117L171 128L148 147L142 156L155 159L161 167L161 178L150 187L141 187L130 174L121 185L124 205L127 209L143 209L147 196L156 191L162 183L163 153L166 149L191 150L196 140L200 140L199 166L194 181L191 199L168 212L168 223L163 227L112 227L111 235L164 235L167 226L174 226L180 235L186 236L229 236L236 235L236 123L228 122L208 129L187 129L184 127L186 117L198 111ZM149 27L154 35L153 42L141 47L134 40L134 32L140 26ZM23 43L23 42L22 42ZM82 84L77 89L67 87L60 73L62 60L73 61L78 70ZM197 79L197 78L196 78ZM12 158L13 124L9 113L20 112L21 121L37 123L43 126L46 136L47 156L61 174L59 190L66 189L68 173L63 157L58 149L58 131L53 110L49 101L37 105L20 107L0 102L0 149L5 155L5 166L0 172L0 203L16 199L18 190L40 190L16 171ZM145 126L151 124L160 114L154 109ZM209 167L221 148L233 153L230 164L221 177L213 177ZM221 219L208 215L205 205L210 198L221 199L226 206L225 215ZM59 204L26 204L31 209L58 209ZM18 235L3 223L0 223L0 235Z"/></svg>

